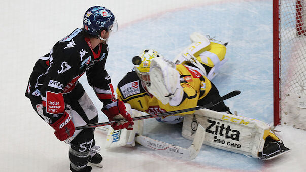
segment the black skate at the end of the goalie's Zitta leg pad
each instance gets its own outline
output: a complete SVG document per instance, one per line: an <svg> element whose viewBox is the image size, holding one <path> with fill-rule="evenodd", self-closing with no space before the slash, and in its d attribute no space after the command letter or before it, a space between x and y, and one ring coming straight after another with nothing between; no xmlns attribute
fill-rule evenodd
<svg viewBox="0 0 306 172"><path fill-rule="evenodd" d="M271 137L265 139L262 152L258 153L261 160L268 160L278 157L284 153L290 152L290 149L284 146L284 143L273 140Z"/></svg>

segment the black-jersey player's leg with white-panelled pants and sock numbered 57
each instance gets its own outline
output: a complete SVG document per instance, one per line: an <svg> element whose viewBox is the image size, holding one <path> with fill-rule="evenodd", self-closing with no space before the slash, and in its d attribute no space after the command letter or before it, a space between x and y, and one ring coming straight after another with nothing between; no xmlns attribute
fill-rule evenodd
<svg viewBox="0 0 306 172"><path fill-rule="evenodd" d="M81 84L77 84L75 89L64 97L67 111L72 114L72 120L76 127L98 122L98 111ZM83 130L86 130L86 132ZM83 130L77 130L74 136L67 140L71 144L69 157L72 168L79 170L77 167L84 167L87 162L102 167L102 157L98 153L99 146L95 145L93 136L94 130ZM82 164L78 165L78 163Z"/></svg>

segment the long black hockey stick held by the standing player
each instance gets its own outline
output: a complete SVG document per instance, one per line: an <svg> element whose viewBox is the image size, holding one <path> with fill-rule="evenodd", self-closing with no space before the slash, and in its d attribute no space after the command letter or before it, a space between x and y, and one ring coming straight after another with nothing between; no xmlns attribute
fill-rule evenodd
<svg viewBox="0 0 306 172"><path fill-rule="evenodd" d="M164 113L159 113L159 114L152 114L152 115L134 117L132 119L133 119L133 121L137 121L137 120L155 118L155 117L160 117L160 116L165 116L165 115L172 115L172 114L179 114L179 113L183 113L183 112L195 111L195 110L204 109L204 108L210 108L210 107L213 107L213 106L219 104L220 102L222 102L226 99L229 99L231 97L234 97L238 94L240 94L240 91L236 90L236 91L232 91L232 92L216 99L215 101L210 102L209 104L206 104L206 105L203 105L203 106L181 109L181 110L176 110L176 111L169 111L169 112L164 112ZM115 122L117 122L117 121L109 121L109 122L96 123L96 124L88 124L88 125L84 125L84 126L78 126L78 127L75 128L75 130L84 129L84 128L94 128L94 127L105 126L105 125L111 125Z"/></svg>

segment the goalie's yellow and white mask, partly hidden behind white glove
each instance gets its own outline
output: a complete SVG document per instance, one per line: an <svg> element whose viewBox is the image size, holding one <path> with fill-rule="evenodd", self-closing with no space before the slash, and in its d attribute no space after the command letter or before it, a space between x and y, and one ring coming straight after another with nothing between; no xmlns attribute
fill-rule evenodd
<svg viewBox="0 0 306 172"><path fill-rule="evenodd" d="M158 54L157 51L153 49L144 50L139 57L141 58L141 63L135 66L135 71L142 82L146 84L147 87L150 87L150 66L151 62L156 57L162 57Z"/></svg>

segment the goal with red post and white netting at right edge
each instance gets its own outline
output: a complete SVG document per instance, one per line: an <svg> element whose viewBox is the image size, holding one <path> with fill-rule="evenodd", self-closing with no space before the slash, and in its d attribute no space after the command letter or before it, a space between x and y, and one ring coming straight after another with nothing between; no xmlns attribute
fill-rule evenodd
<svg viewBox="0 0 306 172"><path fill-rule="evenodd" d="M306 129L306 0L274 0L274 125Z"/></svg>

